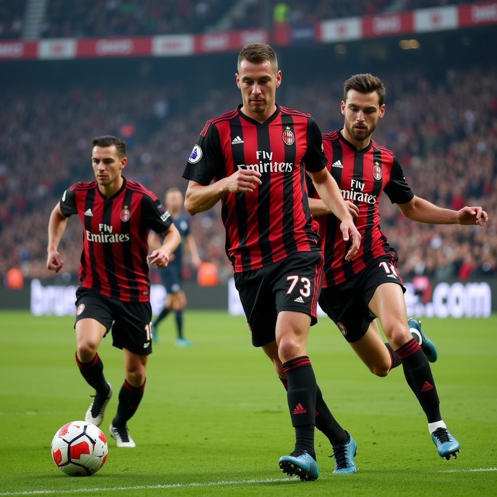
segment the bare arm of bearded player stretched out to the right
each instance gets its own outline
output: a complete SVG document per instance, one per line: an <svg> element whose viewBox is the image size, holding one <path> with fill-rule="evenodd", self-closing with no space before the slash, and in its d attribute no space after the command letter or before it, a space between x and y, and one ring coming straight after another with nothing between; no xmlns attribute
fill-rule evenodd
<svg viewBox="0 0 497 497"><path fill-rule="evenodd" d="M458 211L443 209L424 198L416 197L405 204L397 204L405 217L427 224L462 224L483 226L489 220L481 207L463 207Z"/></svg>

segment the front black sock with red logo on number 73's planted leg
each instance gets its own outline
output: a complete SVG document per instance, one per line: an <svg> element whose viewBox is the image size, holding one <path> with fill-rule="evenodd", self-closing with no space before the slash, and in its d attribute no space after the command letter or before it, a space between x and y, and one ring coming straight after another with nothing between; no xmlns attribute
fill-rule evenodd
<svg viewBox="0 0 497 497"><path fill-rule="evenodd" d="M307 355L283 363L288 382L287 399L292 426L295 428L297 456L307 451L316 459L314 450L314 426L316 423L316 377Z"/></svg>

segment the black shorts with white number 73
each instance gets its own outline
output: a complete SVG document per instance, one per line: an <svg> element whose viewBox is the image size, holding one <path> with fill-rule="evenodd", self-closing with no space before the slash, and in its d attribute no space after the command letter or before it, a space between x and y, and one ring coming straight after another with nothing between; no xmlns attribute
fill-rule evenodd
<svg viewBox="0 0 497 497"><path fill-rule="evenodd" d="M235 286L247 316L252 345L275 339L280 311L296 311L318 322L316 308L323 276L323 252L297 252L260 269L235 273Z"/></svg>

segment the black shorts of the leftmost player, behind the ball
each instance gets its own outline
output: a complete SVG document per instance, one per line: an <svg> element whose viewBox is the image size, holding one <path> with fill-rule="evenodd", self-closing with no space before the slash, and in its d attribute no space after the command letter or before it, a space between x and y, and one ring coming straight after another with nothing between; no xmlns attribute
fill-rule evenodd
<svg viewBox="0 0 497 497"><path fill-rule="evenodd" d="M80 286L76 290L76 323L85 318L105 326L105 335L112 327L114 347L126 348L138 355L152 353L150 302L123 302Z"/></svg>

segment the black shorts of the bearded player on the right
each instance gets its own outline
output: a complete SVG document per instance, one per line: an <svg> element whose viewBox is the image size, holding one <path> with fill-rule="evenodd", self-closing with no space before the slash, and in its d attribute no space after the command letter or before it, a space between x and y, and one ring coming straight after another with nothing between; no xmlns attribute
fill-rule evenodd
<svg viewBox="0 0 497 497"><path fill-rule="evenodd" d="M383 283L397 283L406 293L402 276L397 270L397 261L389 255L373 260L344 283L321 290L321 309L328 314L348 342L362 338L376 318L368 306L374 292Z"/></svg>

